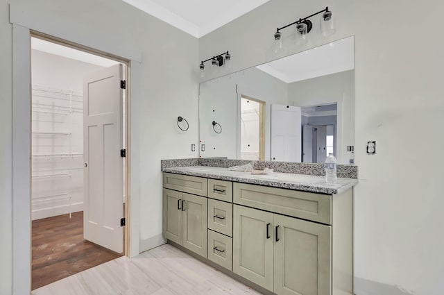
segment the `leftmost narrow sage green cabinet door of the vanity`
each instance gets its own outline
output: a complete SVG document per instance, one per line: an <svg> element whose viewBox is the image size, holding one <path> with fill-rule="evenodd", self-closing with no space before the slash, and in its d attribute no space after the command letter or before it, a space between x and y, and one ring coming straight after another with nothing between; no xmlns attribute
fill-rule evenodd
<svg viewBox="0 0 444 295"><path fill-rule="evenodd" d="M182 244L182 193L171 189L163 192L163 233L166 239Z"/></svg>

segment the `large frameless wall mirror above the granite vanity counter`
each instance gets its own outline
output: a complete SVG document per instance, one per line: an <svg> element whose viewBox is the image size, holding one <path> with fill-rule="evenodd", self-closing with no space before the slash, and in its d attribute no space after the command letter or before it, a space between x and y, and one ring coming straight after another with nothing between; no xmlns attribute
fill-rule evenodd
<svg viewBox="0 0 444 295"><path fill-rule="evenodd" d="M200 157L353 162L354 37L200 83Z"/></svg>

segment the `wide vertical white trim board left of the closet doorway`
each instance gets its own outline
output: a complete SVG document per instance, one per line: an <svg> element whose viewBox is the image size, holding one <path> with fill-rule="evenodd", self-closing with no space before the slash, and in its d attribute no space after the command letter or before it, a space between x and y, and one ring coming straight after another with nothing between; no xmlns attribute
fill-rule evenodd
<svg viewBox="0 0 444 295"><path fill-rule="evenodd" d="M31 37L12 25L12 294L31 293Z"/></svg>

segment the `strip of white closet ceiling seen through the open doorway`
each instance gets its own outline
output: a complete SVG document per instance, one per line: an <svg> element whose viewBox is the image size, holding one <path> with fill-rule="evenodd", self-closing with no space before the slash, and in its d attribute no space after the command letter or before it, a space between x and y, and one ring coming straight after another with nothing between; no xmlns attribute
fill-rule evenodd
<svg viewBox="0 0 444 295"><path fill-rule="evenodd" d="M35 37L31 38L31 49L55 54L56 56L71 58L71 60L80 60L81 62L88 62L92 65L99 65L101 67L111 67L113 65L117 65L120 63L115 60L102 58L101 56L96 56L94 54L86 53L85 51L80 51L69 47L65 47L53 42L47 42Z"/></svg>

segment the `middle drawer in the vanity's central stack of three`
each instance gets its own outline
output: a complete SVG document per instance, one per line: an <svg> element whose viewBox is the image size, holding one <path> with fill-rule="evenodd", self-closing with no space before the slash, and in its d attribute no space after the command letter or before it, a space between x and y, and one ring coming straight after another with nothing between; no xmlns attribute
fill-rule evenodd
<svg viewBox="0 0 444 295"><path fill-rule="evenodd" d="M208 228L233 235L233 204L208 199Z"/></svg>

